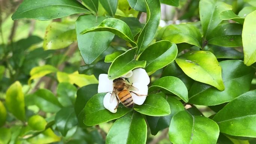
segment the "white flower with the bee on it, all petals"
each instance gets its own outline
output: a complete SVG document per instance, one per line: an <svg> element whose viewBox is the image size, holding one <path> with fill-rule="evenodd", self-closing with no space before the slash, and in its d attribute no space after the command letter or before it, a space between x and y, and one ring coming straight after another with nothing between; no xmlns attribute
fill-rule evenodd
<svg viewBox="0 0 256 144"><path fill-rule="evenodd" d="M129 71L128 74L122 76L124 78L128 78L129 82L125 82L128 85L132 85L138 89L135 91L134 89L128 89L128 91L132 91L131 96L134 104L142 105L147 97L147 85L149 84L149 76L147 72L143 68L137 68L133 71ZM107 74L100 74L99 76L99 85L98 85L98 93L107 92L103 99L104 107L111 111L112 113L116 113L118 105L118 99L114 99L110 102L111 93L113 91L113 80L108 79ZM118 98L118 96L116 96Z"/></svg>

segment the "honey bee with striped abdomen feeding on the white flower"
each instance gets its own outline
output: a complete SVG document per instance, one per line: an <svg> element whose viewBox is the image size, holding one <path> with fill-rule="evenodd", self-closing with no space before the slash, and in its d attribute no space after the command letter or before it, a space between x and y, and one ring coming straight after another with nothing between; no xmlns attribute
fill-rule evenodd
<svg viewBox="0 0 256 144"><path fill-rule="evenodd" d="M132 100L131 92L138 91L138 89L132 85L128 85L127 83L125 83L125 80L122 79L121 77L113 80L113 87L114 88L111 93L110 103L113 101L113 99L116 98L118 101L118 104L119 102L121 102L125 107L132 108L134 105L134 102ZM138 95L135 92L132 92L132 93L134 93L135 95ZM143 96L143 95L138 95L138 96ZM116 105L116 108L118 107L118 104Z"/></svg>

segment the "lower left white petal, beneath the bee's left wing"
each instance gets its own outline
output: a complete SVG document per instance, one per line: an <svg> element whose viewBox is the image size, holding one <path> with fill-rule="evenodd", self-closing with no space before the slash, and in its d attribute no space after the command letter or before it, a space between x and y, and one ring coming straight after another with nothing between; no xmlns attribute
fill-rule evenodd
<svg viewBox="0 0 256 144"><path fill-rule="evenodd" d="M115 98L111 103L110 103L110 97L111 97L111 93L108 92L103 99L103 105L104 107L109 110L111 113L116 113L117 108L116 105L118 105L118 101ZM116 109L115 109L116 108Z"/></svg>

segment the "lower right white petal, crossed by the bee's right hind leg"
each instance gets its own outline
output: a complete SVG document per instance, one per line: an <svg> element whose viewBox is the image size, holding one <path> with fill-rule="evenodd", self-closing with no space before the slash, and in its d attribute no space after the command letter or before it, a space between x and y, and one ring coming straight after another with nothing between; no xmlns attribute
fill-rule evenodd
<svg viewBox="0 0 256 144"><path fill-rule="evenodd" d="M133 83L132 86L138 89L138 91L132 91L132 92L135 92L136 94L141 95L141 96L138 96L131 92L133 102L137 105L142 105L147 97L147 90L148 90L147 85L143 83Z"/></svg>

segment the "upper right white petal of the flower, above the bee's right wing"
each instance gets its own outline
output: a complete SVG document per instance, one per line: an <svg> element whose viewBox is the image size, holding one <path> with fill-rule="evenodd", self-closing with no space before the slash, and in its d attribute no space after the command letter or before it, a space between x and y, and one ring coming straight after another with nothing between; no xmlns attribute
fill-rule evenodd
<svg viewBox="0 0 256 144"><path fill-rule="evenodd" d="M128 78L130 83L143 83L145 85L149 84L149 75L147 75L146 70L143 68L137 68L133 70L132 73L132 76Z"/></svg>

